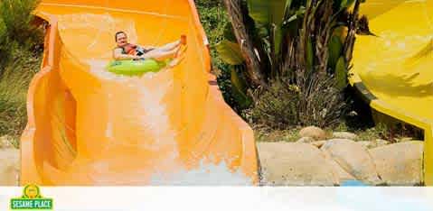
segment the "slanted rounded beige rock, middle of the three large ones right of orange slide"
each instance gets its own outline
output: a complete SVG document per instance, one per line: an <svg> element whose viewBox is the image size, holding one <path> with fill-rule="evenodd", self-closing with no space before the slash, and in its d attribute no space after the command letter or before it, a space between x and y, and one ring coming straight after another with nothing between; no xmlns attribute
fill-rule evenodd
<svg viewBox="0 0 433 211"><path fill-rule="evenodd" d="M361 144L347 139L333 139L321 149L356 179L369 185L381 184L372 157Z"/></svg>

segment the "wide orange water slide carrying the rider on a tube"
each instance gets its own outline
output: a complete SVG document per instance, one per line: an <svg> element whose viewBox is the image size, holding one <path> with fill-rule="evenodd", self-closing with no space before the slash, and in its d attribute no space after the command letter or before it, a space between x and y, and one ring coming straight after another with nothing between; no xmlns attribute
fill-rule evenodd
<svg viewBox="0 0 433 211"><path fill-rule="evenodd" d="M21 184L47 186L257 184L248 124L210 74L193 0L43 0L42 70L28 94ZM163 45L187 35L173 69L108 72L114 34Z"/></svg>

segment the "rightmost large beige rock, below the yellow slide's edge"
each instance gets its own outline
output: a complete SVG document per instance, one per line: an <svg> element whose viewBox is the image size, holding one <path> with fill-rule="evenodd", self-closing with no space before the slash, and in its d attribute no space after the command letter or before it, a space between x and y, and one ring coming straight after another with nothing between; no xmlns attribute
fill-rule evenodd
<svg viewBox="0 0 433 211"><path fill-rule="evenodd" d="M391 186L422 183L423 142L400 142L372 149L372 159L381 179Z"/></svg>

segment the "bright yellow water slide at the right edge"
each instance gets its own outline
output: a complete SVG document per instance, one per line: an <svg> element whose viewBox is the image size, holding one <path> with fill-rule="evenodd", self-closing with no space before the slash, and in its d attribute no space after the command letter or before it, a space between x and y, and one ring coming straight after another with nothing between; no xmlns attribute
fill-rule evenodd
<svg viewBox="0 0 433 211"><path fill-rule="evenodd" d="M357 37L350 82L378 114L424 131L424 180L431 186L433 1L367 0L361 11L377 36Z"/></svg>

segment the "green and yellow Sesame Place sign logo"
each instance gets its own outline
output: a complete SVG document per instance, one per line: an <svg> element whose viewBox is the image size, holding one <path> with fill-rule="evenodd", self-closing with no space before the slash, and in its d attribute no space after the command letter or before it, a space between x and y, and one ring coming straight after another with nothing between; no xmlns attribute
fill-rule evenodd
<svg viewBox="0 0 433 211"><path fill-rule="evenodd" d="M52 198L42 197L41 189L36 185L27 185L23 197L11 199L12 210L52 210Z"/></svg>

